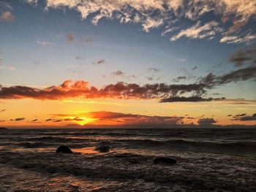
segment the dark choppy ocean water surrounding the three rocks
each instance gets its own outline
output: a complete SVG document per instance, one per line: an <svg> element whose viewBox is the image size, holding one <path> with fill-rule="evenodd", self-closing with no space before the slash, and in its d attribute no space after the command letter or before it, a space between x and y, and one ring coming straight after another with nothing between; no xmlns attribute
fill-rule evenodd
<svg viewBox="0 0 256 192"><path fill-rule="evenodd" d="M256 129L0 131L0 191L256 191Z"/></svg>

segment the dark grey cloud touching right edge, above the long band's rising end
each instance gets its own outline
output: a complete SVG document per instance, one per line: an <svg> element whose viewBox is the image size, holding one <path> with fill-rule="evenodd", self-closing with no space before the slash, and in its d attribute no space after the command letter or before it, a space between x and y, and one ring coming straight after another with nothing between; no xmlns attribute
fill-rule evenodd
<svg viewBox="0 0 256 192"><path fill-rule="evenodd" d="M238 50L230 55L229 60L235 66L243 66L244 64L256 64L256 45L249 49Z"/></svg>

